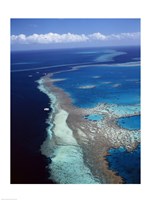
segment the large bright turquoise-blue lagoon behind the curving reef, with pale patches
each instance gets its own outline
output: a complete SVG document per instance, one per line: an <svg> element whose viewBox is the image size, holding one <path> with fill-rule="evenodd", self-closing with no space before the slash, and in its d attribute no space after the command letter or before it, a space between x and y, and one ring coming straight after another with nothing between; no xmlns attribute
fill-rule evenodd
<svg viewBox="0 0 150 200"><path fill-rule="evenodd" d="M53 78L65 79L56 82L55 85L68 92L77 107L91 108L98 103L119 105L140 103L139 66L91 65L76 71L55 74ZM86 88L86 86L93 87Z"/></svg>

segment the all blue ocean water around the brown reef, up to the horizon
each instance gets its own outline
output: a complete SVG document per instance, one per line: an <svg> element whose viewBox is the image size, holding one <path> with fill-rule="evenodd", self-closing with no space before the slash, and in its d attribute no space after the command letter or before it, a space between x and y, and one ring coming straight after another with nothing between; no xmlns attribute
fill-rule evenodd
<svg viewBox="0 0 150 200"><path fill-rule="evenodd" d="M79 109L106 104L117 119L129 119L140 109L140 47L11 52L11 183L66 183L64 177L51 176L54 172L58 174L54 170L53 155L41 153L47 128L53 123L47 121L53 110L52 99L38 89L37 81L48 73L57 80L54 86L69 94L72 104ZM44 108L50 110L44 111ZM137 115L140 116L139 112ZM84 118L87 116L92 114ZM139 117L134 117L134 121L135 131L140 130ZM123 131L134 131L132 120L120 120L119 126ZM137 141L139 139L136 147ZM140 183L140 148L134 148L136 153L134 149L127 151L125 148L121 151L123 156L118 153L120 148L125 146L110 148L106 156L109 169L121 176L123 183ZM132 159L126 156L131 153ZM114 164L116 157L117 165ZM131 160L133 163L128 165ZM132 173L137 164L138 170ZM77 179L77 182L72 179L69 179L71 183L78 183ZM84 180L86 183L87 179Z"/></svg>

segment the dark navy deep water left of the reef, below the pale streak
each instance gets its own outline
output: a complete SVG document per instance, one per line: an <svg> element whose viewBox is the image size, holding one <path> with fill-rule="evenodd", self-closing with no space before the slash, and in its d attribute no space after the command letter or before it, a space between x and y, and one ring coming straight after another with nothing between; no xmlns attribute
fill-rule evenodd
<svg viewBox="0 0 150 200"><path fill-rule="evenodd" d="M40 154L47 135L48 113L43 107L49 99L36 88L39 77L29 78L26 72L11 75L11 183L49 183L47 160Z"/></svg>

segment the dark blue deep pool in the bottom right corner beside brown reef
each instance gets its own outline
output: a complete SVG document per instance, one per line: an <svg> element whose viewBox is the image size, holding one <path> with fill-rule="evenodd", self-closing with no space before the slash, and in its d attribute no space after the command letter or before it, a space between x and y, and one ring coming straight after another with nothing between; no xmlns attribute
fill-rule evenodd
<svg viewBox="0 0 150 200"><path fill-rule="evenodd" d="M132 152L120 147L110 149L109 153L110 168L122 176L125 183L140 183L140 145Z"/></svg>

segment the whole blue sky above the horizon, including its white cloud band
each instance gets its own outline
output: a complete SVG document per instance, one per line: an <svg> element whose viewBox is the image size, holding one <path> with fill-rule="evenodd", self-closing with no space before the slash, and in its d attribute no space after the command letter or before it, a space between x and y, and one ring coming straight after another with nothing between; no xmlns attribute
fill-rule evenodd
<svg viewBox="0 0 150 200"><path fill-rule="evenodd" d="M140 19L11 19L11 50L140 45Z"/></svg>

